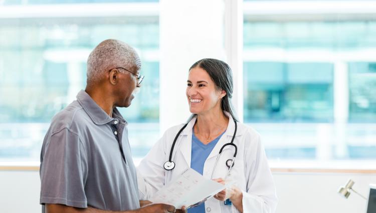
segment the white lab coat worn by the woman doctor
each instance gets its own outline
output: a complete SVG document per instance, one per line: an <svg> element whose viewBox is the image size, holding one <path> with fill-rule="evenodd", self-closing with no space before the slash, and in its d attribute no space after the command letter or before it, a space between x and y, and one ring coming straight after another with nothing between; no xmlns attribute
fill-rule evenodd
<svg viewBox="0 0 376 213"><path fill-rule="evenodd" d="M225 113L229 116L227 112ZM163 164L168 160L173 139L183 124L169 128L142 159L137 167L140 199L148 199L164 184L181 174L187 167L191 167L192 130L195 121L196 117L189 122L176 140L172 152L172 161L175 162L174 169L167 171L163 168ZM238 153L231 169L231 176L227 179L235 180L236 185L242 190L245 213L273 213L277 204L277 196L260 135L249 126L239 122L237 124L238 130L234 143L238 146ZM234 120L229 116L225 134L205 161L203 175L206 178L211 178L217 155L225 143L231 142L234 130ZM213 178L225 177L228 172L226 160L232 159L234 151L233 146L226 146L223 149ZM224 201L214 197L205 202L205 209L206 212L211 213L239 212L235 205L225 205Z"/></svg>

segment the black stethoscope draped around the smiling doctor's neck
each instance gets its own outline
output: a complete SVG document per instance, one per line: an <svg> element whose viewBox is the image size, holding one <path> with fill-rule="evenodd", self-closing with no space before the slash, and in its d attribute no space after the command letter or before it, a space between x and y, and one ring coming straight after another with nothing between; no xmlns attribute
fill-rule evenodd
<svg viewBox="0 0 376 213"><path fill-rule="evenodd" d="M236 131L238 129L238 125L236 123L236 120L234 119L234 122L235 122L235 131L234 131L234 135L233 135L233 138L231 139L231 142L230 143L226 143L222 146L222 148L220 149L218 155L217 155L217 159L216 159L216 162L214 164L214 168L213 168L213 172L212 172L212 176L211 176L211 179L213 179L213 174L216 170L216 167L217 167L217 163L218 163L218 160L222 154L222 151L223 149L226 147L226 146L234 146L235 147L235 153L233 155L233 158L232 159L228 159L226 160L226 166L229 168L229 171L226 175L227 176L230 176L230 171L231 171L231 168L234 166L235 164L235 157L236 157L236 154L238 152L238 147L234 144L234 139L235 139L235 135L236 135ZM163 168L166 169L166 170L172 170L173 168L175 168L175 162L172 161L172 151L173 151L173 148L175 147L175 143L176 143L176 139L177 137L180 135L181 131L183 131L183 129L186 127L186 125L188 125L188 123L184 124L183 127L181 127L181 129L177 132L176 136L175 136L175 139L173 139L173 143L172 143L172 146L171 146L171 149L170 149L170 155L169 155L169 158L168 158L168 161L166 161L164 164L163 164Z"/></svg>

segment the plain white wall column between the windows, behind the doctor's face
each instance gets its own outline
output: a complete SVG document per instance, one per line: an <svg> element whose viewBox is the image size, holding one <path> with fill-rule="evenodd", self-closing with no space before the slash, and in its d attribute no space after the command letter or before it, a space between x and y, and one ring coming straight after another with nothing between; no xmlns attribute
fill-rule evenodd
<svg viewBox="0 0 376 213"><path fill-rule="evenodd" d="M218 0L159 1L161 134L191 115L185 96L189 68L200 59L225 58L223 7Z"/></svg>

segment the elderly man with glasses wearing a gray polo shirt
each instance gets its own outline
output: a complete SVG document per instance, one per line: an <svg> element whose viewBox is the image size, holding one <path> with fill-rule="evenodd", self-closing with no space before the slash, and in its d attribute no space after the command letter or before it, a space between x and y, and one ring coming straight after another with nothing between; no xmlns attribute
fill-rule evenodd
<svg viewBox="0 0 376 213"><path fill-rule="evenodd" d="M42 212L175 211L165 204L139 208L127 122L116 107L131 104L140 67L135 50L117 40L91 52L85 91L52 119L43 141Z"/></svg>

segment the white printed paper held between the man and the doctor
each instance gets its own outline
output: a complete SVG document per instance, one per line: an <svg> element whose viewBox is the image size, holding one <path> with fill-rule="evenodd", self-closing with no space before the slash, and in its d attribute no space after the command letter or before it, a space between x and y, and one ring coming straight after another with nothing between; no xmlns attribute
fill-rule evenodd
<svg viewBox="0 0 376 213"><path fill-rule="evenodd" d="M187 168L149 200L153 203L170 204L177 209L183 205L190 208L205 202L225 188L225 185L205 178L192 168Z"/></svg>

